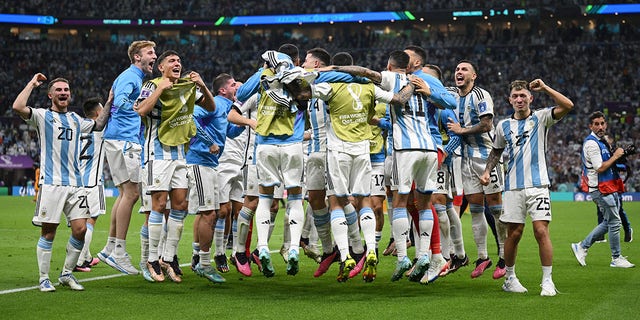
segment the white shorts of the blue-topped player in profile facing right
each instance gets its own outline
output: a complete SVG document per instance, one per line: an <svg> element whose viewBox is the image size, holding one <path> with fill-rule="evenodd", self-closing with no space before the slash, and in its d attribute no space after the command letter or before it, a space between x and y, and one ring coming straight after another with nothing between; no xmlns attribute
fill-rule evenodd
<svg viewBox="0 0 640 320"><path fill-rule="evenodd" d="M218 172L213 167L188 165L189 213L220 209L218 201Z"/></svg>

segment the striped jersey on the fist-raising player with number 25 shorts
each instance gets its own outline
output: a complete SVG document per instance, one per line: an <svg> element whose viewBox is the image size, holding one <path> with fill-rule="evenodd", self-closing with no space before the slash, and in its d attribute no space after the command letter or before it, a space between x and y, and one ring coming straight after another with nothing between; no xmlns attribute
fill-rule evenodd
<svg viewBox="0 0 640 320"><path fill-rule="evenodd" d="M545 154L549 127L556 122L553 108L546 108L533 111L523 120L511 117L498 123L493 147L507 153L505 190L550 184Z"/></svg>

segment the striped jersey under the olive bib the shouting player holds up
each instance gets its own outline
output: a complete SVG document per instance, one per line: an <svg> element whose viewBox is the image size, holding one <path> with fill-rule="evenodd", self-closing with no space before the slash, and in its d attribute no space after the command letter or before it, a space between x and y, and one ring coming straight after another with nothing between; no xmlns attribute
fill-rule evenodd
<svg viewBox="0 0 640 320"><path fill-rule="evenodd" d="M156 85L151 82L145 82L142 91L140 93L140 98L138 98L137 103L151 96L153 91L156 89ZM162 121L162 105L160 105L160 100L149 114L147 114L144 118L145 125L145 138L144 138L144 159L145 161L150 160L181 160L185 158L185 150L184 145L178 146L167 146L160 142L160 137L158 136L158 129L160 128L160 122Z"/></svg>

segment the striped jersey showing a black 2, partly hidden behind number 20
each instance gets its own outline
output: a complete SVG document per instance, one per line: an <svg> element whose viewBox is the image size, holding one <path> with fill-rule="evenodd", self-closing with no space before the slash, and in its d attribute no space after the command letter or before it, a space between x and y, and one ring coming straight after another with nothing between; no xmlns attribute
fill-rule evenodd
<svg viewBox="0 0 640 320"><path fill-rule="evenodd" d="M80 137L80 172L85 187L101 186L103 183L104 149L103 131L83 133Z"/></svg>

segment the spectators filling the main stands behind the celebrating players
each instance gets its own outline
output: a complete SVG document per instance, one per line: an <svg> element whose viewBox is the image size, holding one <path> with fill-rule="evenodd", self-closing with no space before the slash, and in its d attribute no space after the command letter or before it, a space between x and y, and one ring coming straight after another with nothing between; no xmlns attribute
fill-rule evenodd
<svg viewBox="0 0 640 320"><path fill-rule="evenodd" d="M269 7L268 3L271 2L267 1L263 7ZM349 3L360 2L364 3ZM452 1L456 4L468 2ZM147 1L135 2L138 5L145 3ZM184 1L181 3L185 4ZM187 3L199 5L204 1ZM387 2L367 3L382 5ZM30 4L48 6L46 1L31 0L24 1L22 8L30 8ZM232 6L231 1L221 1L216 5L225 4ZM107 5L107 2L101 5ZM222 72L245 80L260 66L258 58L264 50L277 48L285 42L298 45L302 57L306 50L313 47L324 47L331 53L348 51L354 56L356 64L377 70L386 66L391 50L417 44L427 49L429 63L442 68L445 86L453 85L453 71L460 59L474 61L478 67L476 83L492 94L497 119L511 113L507 101L510 81L542 78L565 93L576 105L575 111L561 124L554 126L549 135L550 150L547 156L554 184L552 190L574 190L580 173L580 147L589 132L587 116L590 112L602 110L605 102L627 102L633 106L625 114L610 114L610 132L621 145L634 144L640 147L640 116L636 112L636 109L640 110L640 81L634 76L640 74L640 55L637 54L640 52L640 36L633 27L622 26L615 33L604 27L589 32L575 25L537 26L527 30L519 30L514 26L504 30L467 30L466 34L404 30L385 35L370 30L343 30L342 34L320 39L252 32L238 33L232 39L220 39L213 35L167 38L158 34L151 37L114 35L110 41L82 34L58 40L0 38L0 120L9 119L0 121L0 153L38 154L34 132L16 127L15 121L11 120L15 118L11 104L25 79L35 72L43 72L50 79L59 76L68 78L76 106L92 96L106 98L113 79L123 66L129 64L126 56L128 44L140 38L156 41L158 52L174 49L182 53L185 69L198 71L209 82ZM33 101L30 101L30 105L44 107L47 103L46 89L37 90L40 92L31 95ZM539 99L534 102L536 106L552 104L544 95L536 95L536 99ZM75 111L79 112L79 109ZM631 167L640 169L638 157L631 157L631 160ZM632 191L640 191L640 177L630 176L627 186Z"/></svg>

